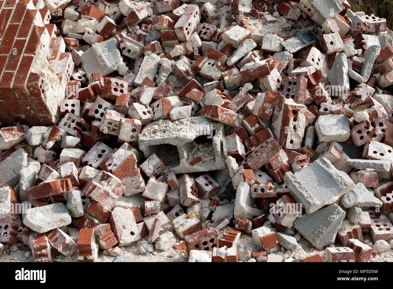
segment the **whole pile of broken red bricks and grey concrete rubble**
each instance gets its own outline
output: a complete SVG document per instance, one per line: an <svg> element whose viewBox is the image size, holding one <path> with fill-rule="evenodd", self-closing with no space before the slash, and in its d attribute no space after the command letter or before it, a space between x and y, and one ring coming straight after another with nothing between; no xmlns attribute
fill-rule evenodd
<svg viewBox="0 0 393 289"><path fill-rule="evenodd" d="M386 19L347 0L0 9L0 253L364 262L393 247ZM297 258L304 239L325 253Z"/></svg>

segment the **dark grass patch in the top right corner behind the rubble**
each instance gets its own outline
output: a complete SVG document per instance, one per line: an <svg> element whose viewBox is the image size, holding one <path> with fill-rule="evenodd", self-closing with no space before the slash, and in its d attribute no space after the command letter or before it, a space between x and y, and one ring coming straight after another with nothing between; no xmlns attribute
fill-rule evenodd
<svg viewBox="0 0 393 289"><path fill-rule="evenodd" d="M354 12L374 14L386 19L387 28L393 29L393 0L349 0Z"/></svg>

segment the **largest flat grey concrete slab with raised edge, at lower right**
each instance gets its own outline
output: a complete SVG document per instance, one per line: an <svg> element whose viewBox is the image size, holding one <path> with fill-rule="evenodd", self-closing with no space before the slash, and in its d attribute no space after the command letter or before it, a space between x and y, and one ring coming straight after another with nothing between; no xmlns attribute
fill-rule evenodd
<svg viewBox="0 0 393 289"><path fill-rule="evenodd" d="M307 214L333 204L354 186L351 178L326 158L319 158L296 173L287 172L284 182Z"/></svg>

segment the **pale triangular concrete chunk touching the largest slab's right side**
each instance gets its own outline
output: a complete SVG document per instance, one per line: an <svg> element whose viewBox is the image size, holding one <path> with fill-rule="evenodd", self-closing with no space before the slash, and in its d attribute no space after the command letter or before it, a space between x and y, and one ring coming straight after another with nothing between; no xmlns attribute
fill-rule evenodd
<svg viewBox="0 0 393 289"><path fill-rule="evenodd" d="M382 201L374 197L374 194L371 193L364 186L363 183L357 183L354 188L349 190L345 195L343 195L341 199L341 204L345 208L351 207L366 207L366 206L382 206Z"/></svg>

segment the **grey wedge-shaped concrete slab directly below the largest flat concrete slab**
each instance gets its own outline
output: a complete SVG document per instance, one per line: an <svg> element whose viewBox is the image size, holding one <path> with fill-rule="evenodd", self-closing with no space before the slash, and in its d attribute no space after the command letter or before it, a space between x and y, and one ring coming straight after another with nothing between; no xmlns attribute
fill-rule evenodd
<svg viewBox="0 0 393 289"><path fill-rule="evenodd" d="M294 221L294 228L314 247L322 249L333 244L341 227L345 212L336 204L305 214Z"/></svg>

